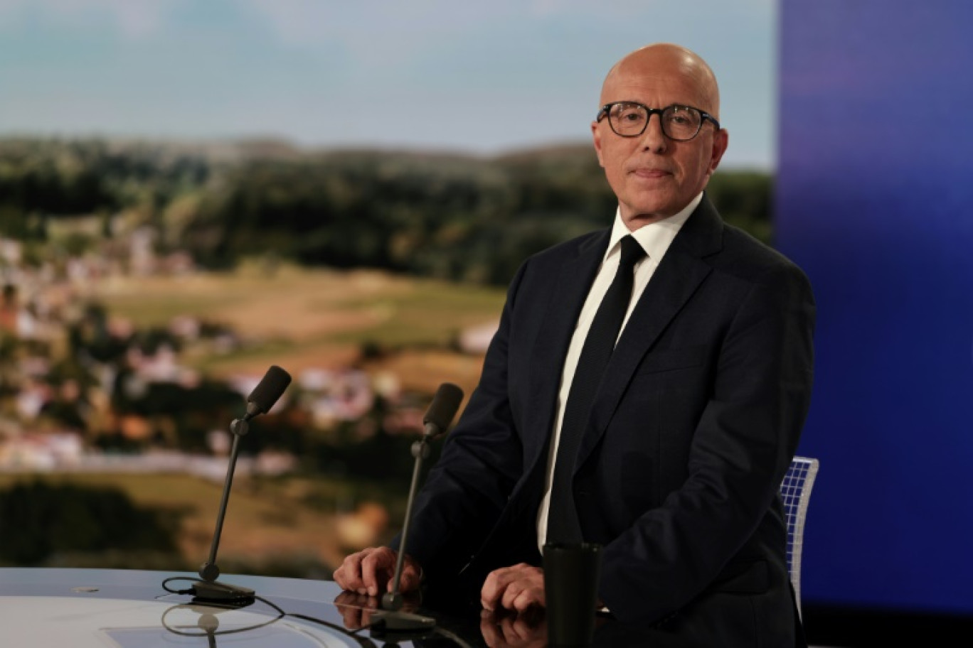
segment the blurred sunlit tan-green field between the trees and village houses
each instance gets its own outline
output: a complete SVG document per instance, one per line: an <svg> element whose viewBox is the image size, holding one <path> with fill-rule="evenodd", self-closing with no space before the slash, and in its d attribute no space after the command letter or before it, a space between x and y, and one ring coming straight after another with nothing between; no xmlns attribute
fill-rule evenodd
<svg viewBox="0 0 973 648"><path fill-rule="evenodd" d="M391 353L370 358L369 368L392 368L406 385L427 388L434 370L438 380L472 389L482 358L456 354L455 340L466 327L499 319L504 290L254 262L227 273L116 279L91 296L138 328L194 316L234 330L244 341L239 349L198 346L183 358L216 375L269 363L294 370L361 364L362 349L371 348Z"/></svg>

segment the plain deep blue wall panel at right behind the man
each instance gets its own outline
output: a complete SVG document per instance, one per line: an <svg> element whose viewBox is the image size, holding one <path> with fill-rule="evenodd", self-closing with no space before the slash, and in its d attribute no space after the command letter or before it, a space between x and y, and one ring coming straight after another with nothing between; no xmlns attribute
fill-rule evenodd
<svg viewBox="0 0 973 648"><path fill-rule="evenodd" d="M818 304L803 598L973 612L973 2L783 0L776 247Z"/></svg>

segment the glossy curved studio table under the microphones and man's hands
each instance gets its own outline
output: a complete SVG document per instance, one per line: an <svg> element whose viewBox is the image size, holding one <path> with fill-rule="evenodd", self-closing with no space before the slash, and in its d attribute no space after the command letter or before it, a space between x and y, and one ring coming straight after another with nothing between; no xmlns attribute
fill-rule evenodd
<svg viewBox="0 0 973 648"><path fill-rule="evenodd" d="M406 601L403 612L431 629L398 633L377 621L377 599L342 592L332 581L225 574L250 588L250 604L200 601L198 575L133 569L0 568L0 646L12 648L543 648L543 609L522 616L469 610L442 614ZM595 647L711 645L680 632L597 617ZM694 633L695 634L695 633Z"/></svg>

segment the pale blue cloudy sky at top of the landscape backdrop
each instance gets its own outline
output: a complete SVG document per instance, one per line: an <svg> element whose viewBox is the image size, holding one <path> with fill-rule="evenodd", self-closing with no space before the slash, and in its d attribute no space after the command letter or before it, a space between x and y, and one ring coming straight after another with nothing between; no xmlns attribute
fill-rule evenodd
<svg viewBox="0 0 973 648"><path fill-rule="evenodd" d="M667 41L716 72L724 166L773 169L775 0L0 0L0 136L501 153L590 141Z"/></svg>

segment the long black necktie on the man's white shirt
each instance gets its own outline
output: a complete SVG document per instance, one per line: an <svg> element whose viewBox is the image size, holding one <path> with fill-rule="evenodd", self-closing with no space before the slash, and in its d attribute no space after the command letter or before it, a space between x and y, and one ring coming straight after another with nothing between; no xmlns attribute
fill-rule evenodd
<svg viewBox="0 0 973 648"><path fill-rule="evenodd" d="M581 357L578 358L560 426L558 457L555 460L554 482L551 486L551 507L548 511L549 542L578 542L583 539L572 492L574 464L581 437L588 426L595 394L601 384L601 376L615 349L618 332L629 310L635 263L643 256L645 251L631 234L622 239L622 258L618 264L618 272L601 299L595 320L581 349Z"/></svg>

